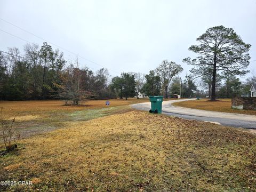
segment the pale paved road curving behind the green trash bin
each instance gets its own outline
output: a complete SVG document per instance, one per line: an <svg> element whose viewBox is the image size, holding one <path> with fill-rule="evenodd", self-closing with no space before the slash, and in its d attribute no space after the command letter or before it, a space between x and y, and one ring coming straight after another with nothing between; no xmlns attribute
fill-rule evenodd
<svg viewBox="0 0 256 192"><path fill-rule="evenodd" d="M162 113L185 119L196 119L199 121L212 122L232 127L243 127L246 129L256 129L256 116L244 114L231 114L216 111L206 111L199 109L190 109L185 107L172 106L174 102L187 101L194 99L180 99L163 101ZM133 104L131 107L139 110L149 111L150 102Z"/></svg>

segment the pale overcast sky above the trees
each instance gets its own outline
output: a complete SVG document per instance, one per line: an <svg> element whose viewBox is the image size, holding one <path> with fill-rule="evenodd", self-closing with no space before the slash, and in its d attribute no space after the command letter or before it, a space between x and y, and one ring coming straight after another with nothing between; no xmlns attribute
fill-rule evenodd
<svg viewBox="0 0 256 192"><path fill-rule="evenodd" d="M182 65L184 71L180 76L184 77L190 66L182 63L182 59L196 56L188 47L196 44L196 38L207 28L219 25L232 27L245 43L250 43L251 61L256 60L255 0L0 0L0 18L99 63L108 68L112 76L122 71L147 74L168 59ZM42 45L44 42L2 20L0 29L31 43ZM0 31L2 51L15 46L22 52L25 43ZM66 59L76 57L60 51ZM79 61L81 66L93 71L101 68L81 58ZM256 71L255 65L256 61L251 62L249 69Z"/></svg>

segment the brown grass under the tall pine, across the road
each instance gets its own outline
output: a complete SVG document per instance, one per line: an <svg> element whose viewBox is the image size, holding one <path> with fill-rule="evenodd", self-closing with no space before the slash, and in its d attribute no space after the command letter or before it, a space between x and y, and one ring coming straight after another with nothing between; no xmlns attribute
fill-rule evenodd
<svg viewBox="0 0 256 192"><path fill-rule="evenodd" d="M218 101L211 102L209 99L191 100L173 103L174 106L188 107L193 109L220 111L226 113L239 113L247 115L256 115L255 110L238 110L231 108L231 99L218 99Z"/></svg>

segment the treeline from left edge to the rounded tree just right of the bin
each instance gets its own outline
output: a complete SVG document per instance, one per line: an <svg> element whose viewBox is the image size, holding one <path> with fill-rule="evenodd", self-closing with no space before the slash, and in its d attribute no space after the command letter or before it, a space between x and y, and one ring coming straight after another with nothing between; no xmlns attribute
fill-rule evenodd
<svg viewBox="0 0 256 192"><path fill-rule="evenodd" d="M130 72L110 79L106 68L95 73L81 68L78 59L65 60L62 52L47 43L26 44L23 51L17 47L0 51L1 100L65 99L77 105L85 99L127 99L139 94L169 97L172 77L183 70L164 60L148 75ZM183 89L187 86L185 81Z"/></svg>

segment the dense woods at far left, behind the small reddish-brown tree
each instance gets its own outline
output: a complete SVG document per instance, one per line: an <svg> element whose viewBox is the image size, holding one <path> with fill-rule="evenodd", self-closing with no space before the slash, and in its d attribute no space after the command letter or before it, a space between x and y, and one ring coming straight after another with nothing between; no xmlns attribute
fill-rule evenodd
<svg viewBox="0 0 256 192"><path fill-rule="evenodd" d="M91 98L116 98L117 92L108 83L108 70L95 73L88 68L78 68L78 61L68 62L63 53L44 43L26 44L24 55L18 48L0 51L0 99L39 100L61 98L60 90L67 83L70 73L79 71L79 90L86 90ZM69 74L69 76L67 75Z"/></svg>

